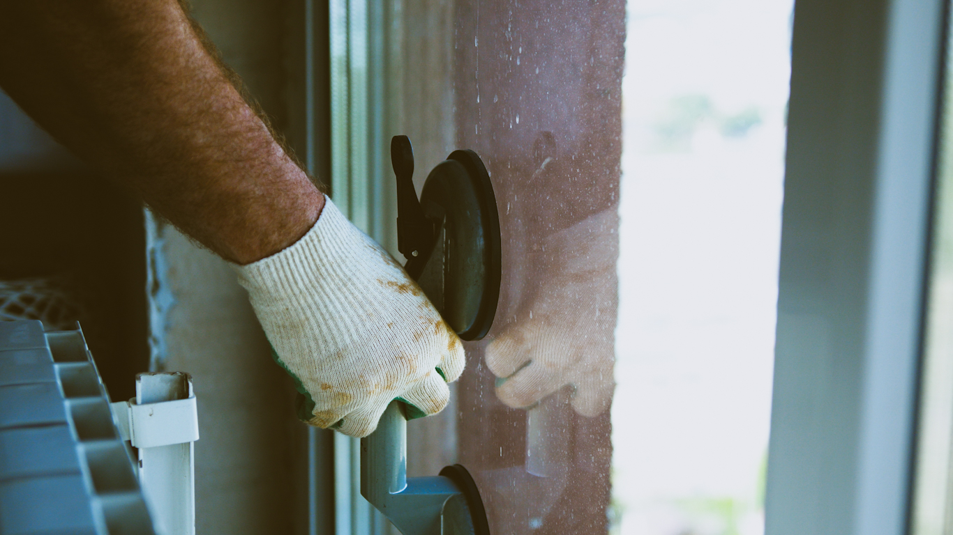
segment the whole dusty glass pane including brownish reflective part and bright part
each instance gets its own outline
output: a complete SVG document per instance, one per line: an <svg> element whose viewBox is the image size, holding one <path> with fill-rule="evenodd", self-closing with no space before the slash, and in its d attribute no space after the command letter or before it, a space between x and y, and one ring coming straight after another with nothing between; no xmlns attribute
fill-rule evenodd
<svg viewBox="0 0 953 535"><path fill-rule="evenodd" d="M495 533L758 533L790 0L401 1L399 133L476 150L503 238L410 471Z"/></svg>

